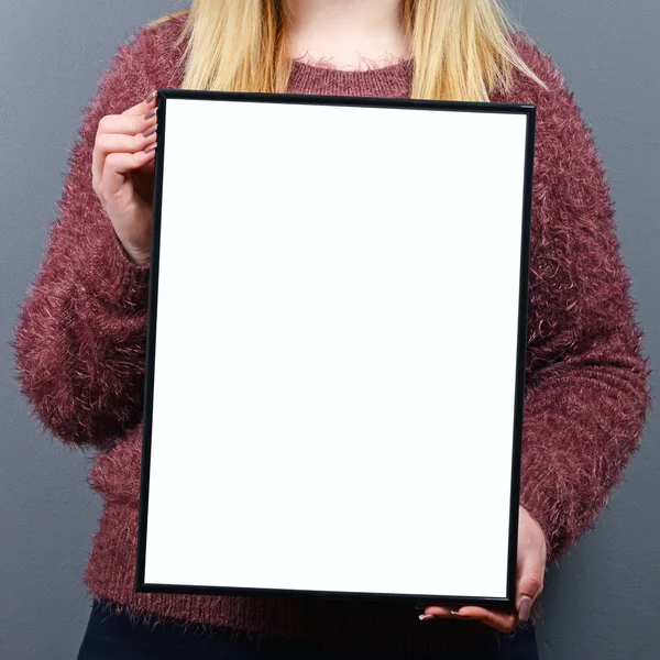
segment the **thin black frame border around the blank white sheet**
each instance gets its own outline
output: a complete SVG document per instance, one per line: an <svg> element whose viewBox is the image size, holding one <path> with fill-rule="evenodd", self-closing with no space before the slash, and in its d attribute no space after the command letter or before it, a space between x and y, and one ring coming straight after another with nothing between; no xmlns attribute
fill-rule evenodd
<svg viewBox="0 0 660 660"><path fill-rule="evenodd" d="M518 350L516 354L516 385L514 406L514 442L512 463L512 502L509 514L509 550L507 559L507 595L504 598L471 597L471 596L438 596L437 594L389 594L389 593L356 593L356 592L327 592L309 590L279 590L256 587L222 587L179 584L145 583L146 559L146 518L148 508L148 480L152 437L153 413L153 377L155 367L155 328L158 290L158 255L161 239L161 210L163 194L163 148L165 145L165 124L167 99L194 100L232 100L237 102L266 102L266 103L304 103L324 106L353 106L365 108L396 108L396 109L424 109L424 110L459 110L468 112L505 112L525 114L527 117L527 132L525 146L525 182L522 200L522 228L520 245L520 276L518 302ZM527 309L529 289L529 251L531 232L532 208L532 179L534 155L536 135L536 105L534 103L493 103L476 101L438 101L426 99L391 99L380 97L345 97L330 95L290 95L290 94L262 94L262 92L226 92L193 90L179 88L165 88L157 91L157 144L155 155L155 184L153 202L152 226L152 253L150 271L150 294L147 306L147 338L146 338L146 370L144 384L144 421L142 466L140 486L140 514L138 535L138 564L135 572L135 592L139 593L172 593L196 595L276 595L276 596L321 596L324 598L384 601L395 600L405 603L438 603L446 605L480 605L483 607L512 608L516 606L516 563L518 542L518 507L520 497L520 461L522 447L522 409L525 398L525 365L527 353Z"/></svg>

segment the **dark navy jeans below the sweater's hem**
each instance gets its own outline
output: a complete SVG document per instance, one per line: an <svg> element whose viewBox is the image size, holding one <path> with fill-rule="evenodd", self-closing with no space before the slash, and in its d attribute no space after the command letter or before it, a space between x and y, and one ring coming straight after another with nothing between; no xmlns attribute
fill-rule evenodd
<svg viewBox="0 0 660 660"><path fill-rule="evenodd" d="M446 651L416 654L409 660L461 659L461 660L539 660L534 628L518 630L514 636L498 634L499 648L469 656L461 650L450 654ZM332 660L349 657L345 647L329 652L321 651L312 641L266 639L248 642L240 635L229 635L221 629L212 635L194 632L176 624L158 624L148 627L142 622L131 624L127 615L102 612L94 601L87 630L77 660ZM365 660L395 660L397 656L380 651L364 651L352 658ZM400 656L398 656L400 658Z"/></svg>

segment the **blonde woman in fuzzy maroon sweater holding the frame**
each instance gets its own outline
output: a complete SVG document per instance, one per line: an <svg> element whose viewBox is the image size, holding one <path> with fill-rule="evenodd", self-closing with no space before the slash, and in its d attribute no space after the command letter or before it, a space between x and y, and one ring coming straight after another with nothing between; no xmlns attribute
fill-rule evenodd
<svg viewBox="0 0 660 660"><path fill-rule="evenodd" d="M538 657L546 565L595 524L650 395L591 131L550 57L513 25L497 0L197 0L119 50L86 109L14 340L38 419L97 450L89 484L105 506L79 660ZM150 91L174 87L537 105L515 609L134 592L157 148ZM432 561L432 548L419 552Z"/></svg>

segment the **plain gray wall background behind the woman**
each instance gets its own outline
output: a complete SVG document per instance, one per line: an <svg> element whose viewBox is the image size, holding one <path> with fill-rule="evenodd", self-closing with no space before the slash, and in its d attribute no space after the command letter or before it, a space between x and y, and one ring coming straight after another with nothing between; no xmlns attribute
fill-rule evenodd
<svg viewBox="0 0 660 660"><path fill-rule="evenodd" d="M16 394L8 342L18 305L44 254L66 148L100 72L121 40L185 7L172 0L0 2L2 659L76 657L90 604L81 579L101 509L85 481L94 453L40 433ZM509 7L561 66L593 127L653 369L660 348L660 3L509 0ZM653 371L653 391L658 385ZM651 415L644 447L596 529L549 573L538 628L543 660L658 657L658 426Z"/></svg>

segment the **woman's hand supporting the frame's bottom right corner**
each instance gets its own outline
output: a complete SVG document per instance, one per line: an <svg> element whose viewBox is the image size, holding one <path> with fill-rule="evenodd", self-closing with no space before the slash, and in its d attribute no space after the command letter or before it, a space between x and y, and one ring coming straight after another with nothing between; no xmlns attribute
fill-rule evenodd
<svg viewBox="0 0 660 660"><path fill-rule="evenodd" d="M433 618L472 618L501 630L510 632L519 622L529 617L531 605L543 591L547 543L540 525L527 509L519 507L518 517L518 571L516 579L516 609L488 609L465 605L457 610L441 605L418 605L424 608L422 620ZM430 615L430 616L429 616ZM424 617L424 618L422 618Z"/></svg>

